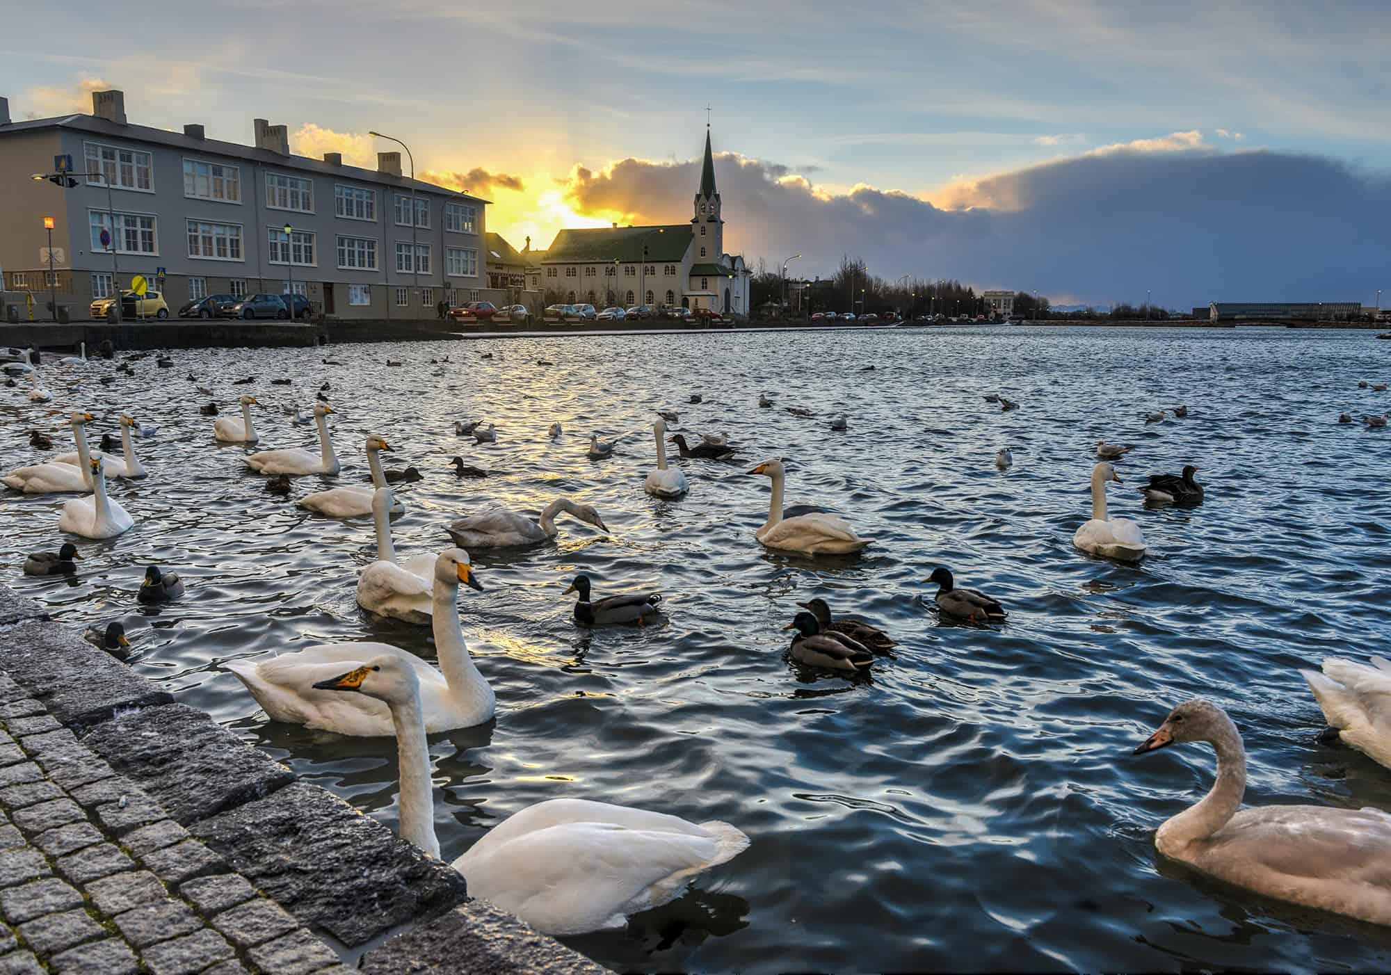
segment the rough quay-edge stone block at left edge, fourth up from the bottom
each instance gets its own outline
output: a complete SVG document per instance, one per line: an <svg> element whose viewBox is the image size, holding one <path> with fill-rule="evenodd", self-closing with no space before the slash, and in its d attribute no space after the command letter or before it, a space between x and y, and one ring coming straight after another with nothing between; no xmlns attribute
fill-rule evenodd
<svg viewBox="0 0 1391 975"><path fill-rule="evenodd" d="M0 619L13 595L0 587ZM31 613L4 633L4 666L22 675L31 697L68 727L92 726L120 708L146 708L172 701L168 691L132 673L110 654L61 626Z"/></svg>

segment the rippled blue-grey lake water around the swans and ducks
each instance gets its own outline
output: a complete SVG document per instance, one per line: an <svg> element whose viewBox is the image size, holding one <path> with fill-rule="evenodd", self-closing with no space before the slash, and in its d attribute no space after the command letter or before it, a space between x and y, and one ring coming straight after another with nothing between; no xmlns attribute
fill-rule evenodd
<svg viewBox="0 0 1391 975"><path fill-rule="evenodd" d="M207 396L186 376L224 416L257 394L262 448L310 445L280 405L307 406L327 380L337 483L366 483L367 433L395 448L388 467L426 474L398 490L398 552L444 548L451 517L536 512L558 495L609 526L562 517L554 544L474 556L487 591L465 590L460 606L498 714L431 737L447 858L559 796L726 819L753 839L627 930L570 939L594 958L668 971L1385 969L1391 936L1159 862L1155 828L1207 789L1213 757L1131 750L1170 705L1206 694L1245 736L1248 803L1391 809L1391 772L1316 744L1323 722L1299 676L1324 655L1387 651L1391 433L1337 416L1388 409L1387 394L1356 388L1388 378L1388 350L1367 332L992 328L355 345L331 349L341 366L314 349L179 350L174 369L152 356L113 385L96 382L111 363L54 367L50 406L0 388L4 467L36 455L31 427L67 442L70 409L100 417L95 435L128 409L157 427L139 444L152 476L113 483L136 527L83 541L75 581L18 576L24 552L63 541L64 495L7 491L0 554L6 583L56 619L124 620L139 673L395 828L394 741L267 723L223 668L356 638L433 659L426 630L373 622L353 601L374 558L370 519L296 508L317 477L289 499L266 492L242 448L213 442L198 413ZM246 376L256 382L231 385ZM270 384L281 377L294 385ZM758 409L764 391L775 409ZM985 403L993 391L1020 409ZM1178 403L1188 419L1145 424ZM682 462L691 492L675 502L643 492L662 408L680 412L676 430L741 446L732 463ZM829 431L839 412L847 433ZM497 423L497 445L453 435L455 419L479 416ZM588 460L590 431L623 435L618 453ZM1135 444L1111 510L1143 527L1138 567L1071 544L1102 438ZM1003 445L1015 460L1004 473ZM492 476L455 480L456 453ZM765 554L753 533L768 481L744 472L768 456L789 458L789 503L835 509L875 545L823 565ZM1206 503L1145 510L1136 481L1189 462ZM184 601L138 608L150 562L185 576ZM921 581L935 565L1003 601L1008 625L939 623ZM581 570L595 595L662 591L669 623L577 629L562 593ZM814 595L889 629L896 656L861 680L800 672L780 627Z"/></svg>

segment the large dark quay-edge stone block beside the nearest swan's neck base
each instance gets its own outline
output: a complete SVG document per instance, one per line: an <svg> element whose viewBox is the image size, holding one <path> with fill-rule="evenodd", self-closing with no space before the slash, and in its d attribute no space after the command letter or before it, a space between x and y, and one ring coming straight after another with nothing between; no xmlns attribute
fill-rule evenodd
<svg viewBox="0 0 1391 975"><path fill-rule="evenodd" d="M189 832L300 924L349 947L467 896L458 871L305 782Z"/></svg>

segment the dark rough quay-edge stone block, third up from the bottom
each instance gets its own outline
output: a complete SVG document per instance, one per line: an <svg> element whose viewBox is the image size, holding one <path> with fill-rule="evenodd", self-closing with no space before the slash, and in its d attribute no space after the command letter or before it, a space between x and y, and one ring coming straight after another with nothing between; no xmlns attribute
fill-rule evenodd
<svg viewBox="0 0 1391 975"><path fill-rule="evenodd" d="M182 704L122 714L93 727L83 743L185 826L295 780L288 768Z"/></svg>

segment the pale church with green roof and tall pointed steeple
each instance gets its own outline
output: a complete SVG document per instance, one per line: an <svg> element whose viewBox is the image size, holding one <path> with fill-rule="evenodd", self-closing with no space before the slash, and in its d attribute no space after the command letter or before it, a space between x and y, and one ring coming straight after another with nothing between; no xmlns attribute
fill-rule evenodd
<svg viewBox="0 0 1391 975"><path fill-rule="evenodd" d="M748 314L751 273L725 253L725 218L705 127L705 160L689 224L562 229L548 250L522 250L531 291L569 305L648 305Z"/></svg>

